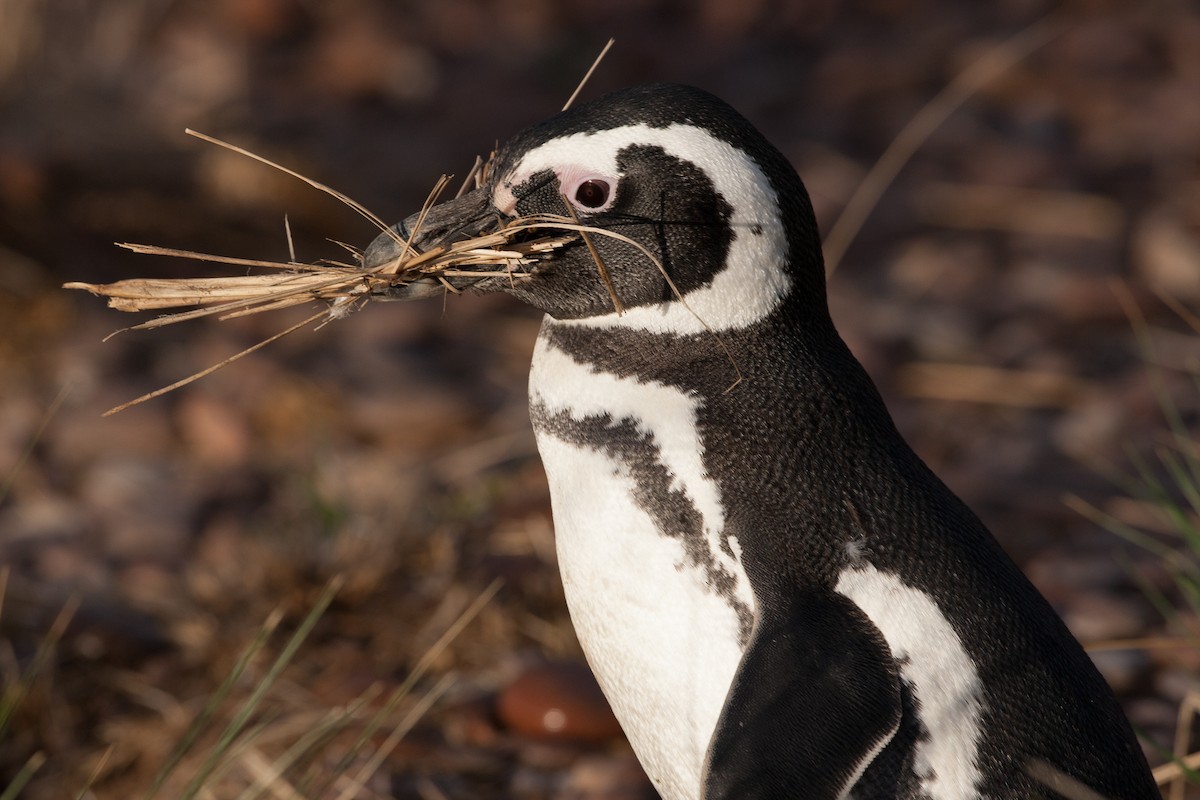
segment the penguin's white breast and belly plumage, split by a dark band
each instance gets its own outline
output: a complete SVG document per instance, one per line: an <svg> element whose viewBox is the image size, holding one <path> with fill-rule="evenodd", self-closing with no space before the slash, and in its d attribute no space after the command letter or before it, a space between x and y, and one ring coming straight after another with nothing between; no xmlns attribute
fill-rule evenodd
<svg viewBox="0 0 1200 800"><path fill-rule="evenodd" d="M538 342L530 402L570 420L631 422L703 518L719 566L736 581L736 603L754 610L737 559L720 546L720 492L704 474L697 399L662 384L596 372ZM536 415L535 415L536 416ZM634 498L630 465L602 446L538 426L550 480L559 569L576 633L647 774L665 800L700 798L709 739L742 658L731 599L709 585Z"/></svg>

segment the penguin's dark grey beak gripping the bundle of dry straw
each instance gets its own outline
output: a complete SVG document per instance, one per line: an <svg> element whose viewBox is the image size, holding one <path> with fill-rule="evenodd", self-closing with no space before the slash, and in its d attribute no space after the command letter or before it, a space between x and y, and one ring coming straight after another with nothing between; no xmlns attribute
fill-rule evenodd
<svg viewBox="0 0 1200 800"><path fill-rule="evenodd" d="M439 245L482 236L496 231L503 222L504 216L492 205L488 190L480 187L427 209L424 216L414 213L376 236L362 253L362 266L368 270L383 266L406 253L406 247L409 254L424 253ZM480 269L486 271L486 267ZM442 294L448 285L458 291L485 281L487 278L484 276L469 275L426 276L412 283L389 287L372 296L382 300L420 300Z"/></svg>

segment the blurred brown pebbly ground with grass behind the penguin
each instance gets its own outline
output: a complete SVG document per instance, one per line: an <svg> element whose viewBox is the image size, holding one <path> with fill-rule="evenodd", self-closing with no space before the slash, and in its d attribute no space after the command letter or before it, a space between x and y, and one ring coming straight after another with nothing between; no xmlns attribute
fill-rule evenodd
<svg viewBox="0 0 1200 800"><path fill-rule="evenodd" d="M101 417L312 312L102 342L138 318L59 288L221 273L116 241L372 239L185 127L400 219L610 36L584 100L716 92L826 231L932 122L834 318L1165 760L1200 688L1194 2L0 0L0 796L654 796L563 604L534 312L374 303Z"/></svg>

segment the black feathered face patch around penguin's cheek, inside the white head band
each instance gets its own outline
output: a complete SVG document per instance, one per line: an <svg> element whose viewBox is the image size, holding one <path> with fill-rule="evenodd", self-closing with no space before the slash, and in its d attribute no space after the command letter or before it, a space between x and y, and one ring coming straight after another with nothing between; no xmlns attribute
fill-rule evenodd
<svg viewBox="0 0 1200 800"><path fill-rule="evenodd" d="M686 295L712 282L733 242L733 209L704 170L650 145L623 149L617 163L622 179L614 203L581 219L638 242L659 261L628 242L590 234L620 302L625 307L660 303L673 300L676 291ZM558 180L548 169L514 187L514 196L520 215L566 211ZM613 309L595 259L583 245L541 263L536 281L502 290L558 319Z"/></svg>

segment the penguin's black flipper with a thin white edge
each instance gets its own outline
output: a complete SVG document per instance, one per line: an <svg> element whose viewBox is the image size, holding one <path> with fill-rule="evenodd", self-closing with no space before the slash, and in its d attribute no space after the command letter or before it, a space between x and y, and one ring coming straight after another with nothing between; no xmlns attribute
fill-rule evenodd
<svg viewBox="0 0 1200 800"><path fill-rule="evenodd" d="M798 593L755 625L708 746L704 800L842 798L900 715L875 626L842 595Z"/></svg>

